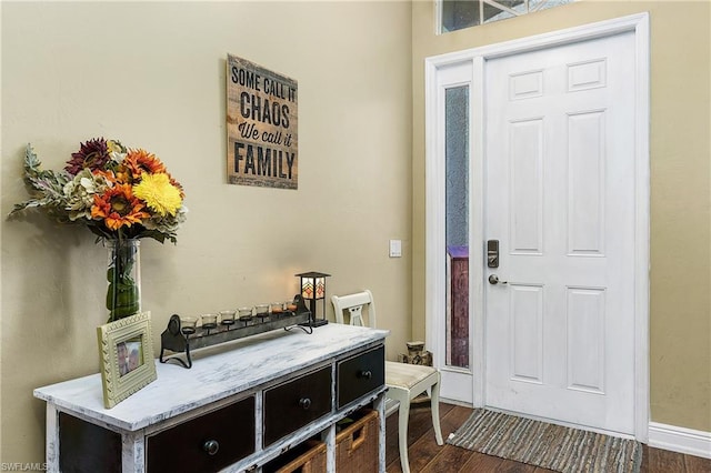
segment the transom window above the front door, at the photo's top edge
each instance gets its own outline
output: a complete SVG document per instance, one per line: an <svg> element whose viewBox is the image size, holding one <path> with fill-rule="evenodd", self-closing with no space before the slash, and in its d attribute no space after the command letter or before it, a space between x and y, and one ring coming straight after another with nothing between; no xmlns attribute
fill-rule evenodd
<svg viewBox="0 0 711 473"><path fill-rule="evenodd" d="M571 3L573 0L439 0L438 31L447 33L478 24Z"/></svg>

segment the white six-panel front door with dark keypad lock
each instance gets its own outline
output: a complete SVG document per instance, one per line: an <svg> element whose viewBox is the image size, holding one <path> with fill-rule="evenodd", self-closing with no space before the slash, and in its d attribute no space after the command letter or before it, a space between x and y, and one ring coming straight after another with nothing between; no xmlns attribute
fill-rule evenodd
<svg viewBox="0 0 711 473"><path fill-rule="evenodd" d="M634 41L485 62L485 405L634 433Z"/></svg>

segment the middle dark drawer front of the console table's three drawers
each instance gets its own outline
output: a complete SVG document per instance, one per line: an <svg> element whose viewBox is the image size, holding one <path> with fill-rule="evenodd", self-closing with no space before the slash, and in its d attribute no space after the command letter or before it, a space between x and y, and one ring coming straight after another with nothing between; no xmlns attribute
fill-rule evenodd
<svg viewBox="0 0 711 473"><path fill-rule="evenodd" d="M331 366L264 391L264 446L331 412Z"/></svg>

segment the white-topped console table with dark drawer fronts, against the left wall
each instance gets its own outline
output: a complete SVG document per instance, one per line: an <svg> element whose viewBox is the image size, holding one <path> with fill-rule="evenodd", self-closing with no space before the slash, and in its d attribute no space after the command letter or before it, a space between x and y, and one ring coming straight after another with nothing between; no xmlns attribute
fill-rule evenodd
<svg viewBox="0 0 711 473"><path fill-rule="evenodd" d="M336 471L336 423L372 403L384 472L384 330L328 324L202 349L193 366L112 409L99 374L34 390L47 402L48 470L254 471L320 435ZM92 470L93 469L93 470Z"/></svg>

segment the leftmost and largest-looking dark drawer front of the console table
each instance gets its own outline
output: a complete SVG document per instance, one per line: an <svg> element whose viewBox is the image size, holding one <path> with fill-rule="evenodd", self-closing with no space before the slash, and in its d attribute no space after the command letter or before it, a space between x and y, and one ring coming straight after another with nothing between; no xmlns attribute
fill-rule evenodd
<svg viewBox="0 0 711 473"><path fill-rule="evenodd" d="M254 453L254 396L148 436L148 473L216 472Z"/></svg>

